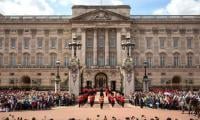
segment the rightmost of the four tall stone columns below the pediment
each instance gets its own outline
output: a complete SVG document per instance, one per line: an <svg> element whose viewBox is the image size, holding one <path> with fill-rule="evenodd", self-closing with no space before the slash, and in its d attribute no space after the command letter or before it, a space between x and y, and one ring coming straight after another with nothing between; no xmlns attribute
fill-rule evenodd
<svg viewBox="0 0 200 120"><path fill-rule="evenodd" d="M117 65L122 64L122 57L121 57L121 29L117 29Z"/></svg>

